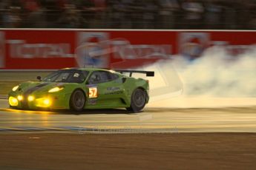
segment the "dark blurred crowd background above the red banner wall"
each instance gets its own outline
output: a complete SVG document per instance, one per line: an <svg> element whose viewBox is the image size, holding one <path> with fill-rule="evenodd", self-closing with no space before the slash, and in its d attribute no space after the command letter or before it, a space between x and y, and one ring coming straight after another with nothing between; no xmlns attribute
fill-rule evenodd
<svg viewBox="0 0 256 170"><path fill-rule="evenodd" d="M0 27L255 30L255 0L1 0Z"/></svg>

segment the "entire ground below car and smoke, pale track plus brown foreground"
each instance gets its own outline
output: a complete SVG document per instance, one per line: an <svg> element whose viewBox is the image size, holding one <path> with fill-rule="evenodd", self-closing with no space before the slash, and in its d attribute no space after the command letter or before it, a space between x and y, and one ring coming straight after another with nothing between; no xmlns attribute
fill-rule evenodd
<svg viewBox="0 0 256 170"><path fill-rule="evenodd" d="M255 99L176 102L131 114L25 111L1 99L0 169L255 169Z"/></svg>

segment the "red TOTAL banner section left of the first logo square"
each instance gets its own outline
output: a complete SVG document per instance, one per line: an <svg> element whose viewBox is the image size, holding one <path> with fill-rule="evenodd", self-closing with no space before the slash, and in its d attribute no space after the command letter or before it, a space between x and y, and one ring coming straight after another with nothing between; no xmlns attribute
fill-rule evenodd
<svg viewBox="0 0 256 170"><path fill-rule="evenodd" d="M75 32L6 30L5 69L57 69L75 65Z"/></svg>

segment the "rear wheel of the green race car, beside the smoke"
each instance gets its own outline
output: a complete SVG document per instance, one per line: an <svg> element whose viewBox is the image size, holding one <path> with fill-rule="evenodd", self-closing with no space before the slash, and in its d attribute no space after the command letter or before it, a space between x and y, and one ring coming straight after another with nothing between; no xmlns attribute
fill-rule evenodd
<svg viewBox="0 0 256 170"><path fill-rule="evenodd" d="M131 106L126 108L128 111L137 113L140 112L146 103L147 94L143 89L135 89L131 95Z"/></svg>

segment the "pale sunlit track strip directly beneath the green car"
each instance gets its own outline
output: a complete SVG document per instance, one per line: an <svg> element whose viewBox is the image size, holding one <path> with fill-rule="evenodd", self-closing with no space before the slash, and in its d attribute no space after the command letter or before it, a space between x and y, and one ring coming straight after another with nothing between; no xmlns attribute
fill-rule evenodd
<svg viewBox="0 0 256 170"><path fill-rule="evenodd" d="M154 105L150 105L154 106ZM83 112L8 109L0 100L1 132L256 132L256 106L215 108L146 107L137 114L125 109Z"/></svg>

